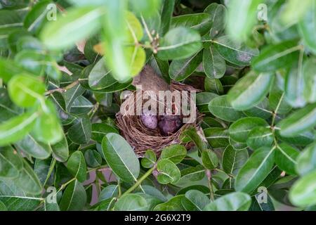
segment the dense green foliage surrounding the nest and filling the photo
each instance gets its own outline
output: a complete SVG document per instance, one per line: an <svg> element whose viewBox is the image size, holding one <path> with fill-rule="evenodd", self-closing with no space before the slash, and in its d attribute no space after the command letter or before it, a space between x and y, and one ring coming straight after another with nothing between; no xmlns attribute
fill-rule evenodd
<svg viewBox="0 0 316 225"><path fill-rule="evenodd" d="M191 150L119 135L145 64ZM0 0L0 210L315 210L315 127L316 0Z"/></svg>

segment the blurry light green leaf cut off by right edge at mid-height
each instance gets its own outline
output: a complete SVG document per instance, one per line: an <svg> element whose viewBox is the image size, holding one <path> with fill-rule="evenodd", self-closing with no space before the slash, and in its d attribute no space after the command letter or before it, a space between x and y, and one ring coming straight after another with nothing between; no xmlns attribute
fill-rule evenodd
<svg viewBox="0 0 316 225"><path fill-rule="evenodd" d="M316 125L316 104L308 105L289 115L277 124L281 130L279 134L285 137L298 136Z"/></svg>

